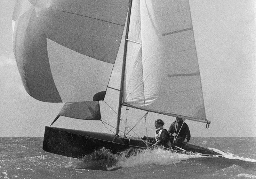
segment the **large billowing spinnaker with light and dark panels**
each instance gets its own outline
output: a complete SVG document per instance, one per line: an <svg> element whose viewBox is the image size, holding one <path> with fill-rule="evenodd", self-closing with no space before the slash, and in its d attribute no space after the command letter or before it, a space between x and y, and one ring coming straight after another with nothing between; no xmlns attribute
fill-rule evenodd
<svg viewBox="0 0 256 179"><path fill-rule="evenodd" d="M14 54L28 94L44 102L92 101L106 91L128 0L23 0L13 20Z"/></svg>

